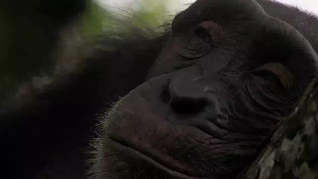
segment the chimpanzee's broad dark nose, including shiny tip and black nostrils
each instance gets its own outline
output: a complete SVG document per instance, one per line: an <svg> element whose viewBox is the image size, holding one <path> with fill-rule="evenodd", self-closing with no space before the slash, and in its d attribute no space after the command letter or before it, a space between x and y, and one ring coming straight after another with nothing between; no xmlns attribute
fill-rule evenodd
<svg viewBox="0 0 318 179"><path fill-rule="evenodd" d="M169 106L177 114L202 112L210 103L201 72L198 69L184 71L169 84Z"/></svg>

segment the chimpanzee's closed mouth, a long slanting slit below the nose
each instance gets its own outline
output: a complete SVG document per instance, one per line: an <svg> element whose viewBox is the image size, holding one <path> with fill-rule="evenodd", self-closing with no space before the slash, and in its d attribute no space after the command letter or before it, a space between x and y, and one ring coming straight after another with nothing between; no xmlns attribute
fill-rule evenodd
<svg viewBox="0 0 318 179"><path fill-rule="evenodd" d="M166 179L208 179L208 178L198 178L193 176L188 176L186 174L182 174L180 172L174 171L169 169L168 167L164 166L163 164L157 162L155 159L150 157L149 155L146 155L140 151L137 151L133 149L132 147L129 147L128 145L124 144L123 142L108 138L108 143L111 145L114 149L120 151L124 155L128 155L132 158L134 158L136 164L145 164L145 168L153 169L149 172L153 173L153 171L157 171L159 174L156 173L156 177L158 178L158 175L164 175ZM150 174L152 175L152 174Z"/></svg>

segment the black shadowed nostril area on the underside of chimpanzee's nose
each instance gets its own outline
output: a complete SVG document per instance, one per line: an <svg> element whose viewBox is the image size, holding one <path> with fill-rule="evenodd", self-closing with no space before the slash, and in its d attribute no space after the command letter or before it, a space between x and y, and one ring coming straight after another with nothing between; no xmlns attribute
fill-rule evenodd
<svg viewBox="0 0 318 179"><path fill-rule="evenodd" d="M173 97L170 101L170 107L178 114L200 113L207 105L208 101L204 98Z"/></svg>

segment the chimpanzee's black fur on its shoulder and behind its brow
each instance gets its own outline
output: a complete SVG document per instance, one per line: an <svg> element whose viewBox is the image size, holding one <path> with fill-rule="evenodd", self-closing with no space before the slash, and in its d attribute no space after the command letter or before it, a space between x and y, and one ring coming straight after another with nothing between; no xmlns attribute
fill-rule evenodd
<svg viewBox="0 0 318 179"><path fill-rule="evenodd" d="M294 26L318 51L315 15L278 2L258 3L269 15ZM85 179L85 161L91 158L85 149L95 135L96 113L145 81L168 36L169 32L155 40L137 36L120 41L116 51L97 50L84 60L80 71L56 76L27 102L1 109L0 152L5 154L1 161L8 178Z"/></svg>

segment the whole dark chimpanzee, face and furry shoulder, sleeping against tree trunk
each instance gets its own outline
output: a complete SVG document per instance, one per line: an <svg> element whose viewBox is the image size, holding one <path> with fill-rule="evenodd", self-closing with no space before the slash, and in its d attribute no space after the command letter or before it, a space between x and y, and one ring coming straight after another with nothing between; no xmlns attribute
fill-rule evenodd
<svg viewBox="0 0 318 179"><path fill-rule="evenodd" d="M85 179L95 113L117 95L94 143L93 177L235 178L317 73L318 20L257 2L198 0L165 36L99 52L2 110L9 178Z"/></svg>

